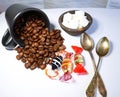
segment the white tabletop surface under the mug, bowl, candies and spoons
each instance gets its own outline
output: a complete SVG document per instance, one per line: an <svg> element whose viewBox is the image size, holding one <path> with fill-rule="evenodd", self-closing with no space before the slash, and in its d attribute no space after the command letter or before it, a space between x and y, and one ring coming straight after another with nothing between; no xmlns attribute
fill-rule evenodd
<svg viewBox="0 0 120 97"><path fill-rule="evenodd" d="M77 9L77 8L72 8ZM55 29L60 29L65 38L65 45L70 51L71 45L79 46L80 36L70 36L58 24L59 16L71 9L43 9ZM93 17L92 26L86 31L95 44L106 36L110 40L110 53L101 62L100 74L104 80L108 96L119 97L120 82L120 9L79 9L88 12ZM4 13L0 14L0 41L7 29ZM98 56L93 50L96 62ZM74 83L62 83L49 79L44 71L25 69L22 62L16 60L16 52L6 50L0 43L0 97L86 97L85 90L93 76L93 66L90 56L83 51L85 68L88 75L73 75ZM97 97L101 97L97 93Z"/></svg>

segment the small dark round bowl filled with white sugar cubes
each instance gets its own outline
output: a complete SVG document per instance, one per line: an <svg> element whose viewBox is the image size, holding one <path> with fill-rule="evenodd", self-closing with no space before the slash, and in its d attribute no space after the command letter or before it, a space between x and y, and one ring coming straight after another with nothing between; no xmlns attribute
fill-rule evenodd
<svg viewBox="0 0 120 97"><path fill-rule="evenodd" d="M70 35L80 35L92 24L92 17L81 10L71 10L59 17L61 28Z"/></svg>

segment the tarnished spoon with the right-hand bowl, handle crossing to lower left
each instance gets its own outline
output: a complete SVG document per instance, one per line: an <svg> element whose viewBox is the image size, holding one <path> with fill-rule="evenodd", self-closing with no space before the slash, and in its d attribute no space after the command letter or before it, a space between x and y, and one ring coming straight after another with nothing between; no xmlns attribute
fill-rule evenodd
<svg viewBox="0 0 120 97"><path fill-rule="evenodd" d="M97 84L97 75L98 75L98 67L99 67L99 64L100 64L100 60L103 56L105 56L109 52L109 49L110 49L110 43L109 43L109 40L107 39L107 37L101 38L98 41L97 46L96 46L96 53L99 56L99 60L98 60L98 65L96 67L96 71L95 71L95 74L93 76L93 79L91 80L91 82L88 86L88 89L87 89L86 94L87 94L88 97L94 97L95 93L94 93L94 90L92 90L92 88L95 88L95 86ZM102 96L106 97L107 94L104 94Z"/></svg>

